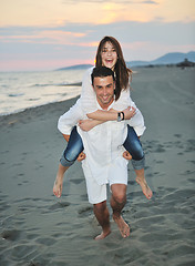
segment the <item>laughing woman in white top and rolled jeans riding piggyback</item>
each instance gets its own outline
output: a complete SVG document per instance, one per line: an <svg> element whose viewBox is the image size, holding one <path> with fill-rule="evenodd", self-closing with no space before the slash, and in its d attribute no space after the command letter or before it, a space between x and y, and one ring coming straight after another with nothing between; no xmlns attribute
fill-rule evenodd
<svg viewBox="0 0 195 266"><path fill-rule="evenodd" d="M106 121L120 121L121 117L119 117L119 111L123 111L123 119L130 120L130 125L127 126L127 137L123 144L126 152L124 152L123 156L127 160L132 158L132 164L136 174L136 182L141 185L145 196L151 198L152 191L144 176L144 152L137 137L137 135L141 136L145 131L144 120L140 110L130 98L130 81L132 78L132 71L126 68L121 45L116 39L113 37L104 37L101 40L96 52L95 65L104 65L114 71L116 82L115 103L113 109L110 111L101 111L96 109L95 93L93 92L91 85L91 72L93 68L90 69L84 75L82 82L82 93L79 100L81 101L82 109L84 113L88 114L89 120L80 121L79 126L84 131L89 131ZM132 106L132 110L130 110L130 106ZM61 123L61 117L59 123ZM62 193L63 175L65 171L75 162L76 158L78 161L82 161L85 157L85 154L82 152L82 140L78 134L75 126L72 130L70 139L65 135L64 137L69 143L62 155L53 186L53 193L58 197L60 197Z"/></svg>

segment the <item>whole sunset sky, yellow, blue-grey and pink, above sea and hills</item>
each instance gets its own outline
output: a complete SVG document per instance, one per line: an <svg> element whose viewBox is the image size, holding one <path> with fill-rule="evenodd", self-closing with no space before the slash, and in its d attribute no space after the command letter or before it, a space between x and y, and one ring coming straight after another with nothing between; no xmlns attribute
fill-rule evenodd
<svg viewBox="0 0 195 266"><path fill-rule="evenodd" d="M93 63L104 35L126 61L195 51L195 1L0 0L0 71Z"/></svg>

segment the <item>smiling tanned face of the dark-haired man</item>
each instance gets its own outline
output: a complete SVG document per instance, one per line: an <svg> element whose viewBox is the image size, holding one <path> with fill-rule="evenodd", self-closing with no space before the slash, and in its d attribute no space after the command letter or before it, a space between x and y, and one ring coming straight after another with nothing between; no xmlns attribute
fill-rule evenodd
<svg viewBox="0 0 195 266"><path fill-rule="evenodd" d="M114 100L115 83L112 75L103 78L94 78L93 88L96 100L102 109L107 109Z"/></svg>

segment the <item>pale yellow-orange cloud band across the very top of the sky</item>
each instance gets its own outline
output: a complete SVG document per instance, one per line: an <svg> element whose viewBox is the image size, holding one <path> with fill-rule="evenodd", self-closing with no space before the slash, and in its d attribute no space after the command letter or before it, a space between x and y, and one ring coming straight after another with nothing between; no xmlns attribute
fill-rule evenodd
<svg viewBox="0 0 195 266"><path fill-rule="evenodd" d="M194 0L7 0L1 27L58 27L69 23L105 24L116 21L195 21Z"/></svg>

